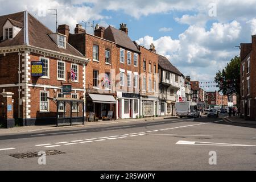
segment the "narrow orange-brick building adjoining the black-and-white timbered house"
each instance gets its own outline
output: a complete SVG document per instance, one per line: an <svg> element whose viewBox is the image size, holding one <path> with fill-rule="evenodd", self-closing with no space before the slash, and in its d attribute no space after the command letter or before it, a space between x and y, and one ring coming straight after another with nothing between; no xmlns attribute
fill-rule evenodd
<svg viewBox="0 0 256 182"><path fill-rule="evenodd" d="M139 46L140 63L140 107L141 115L152 117L158 115L158 55L154 44L150 49Z"/></svg>

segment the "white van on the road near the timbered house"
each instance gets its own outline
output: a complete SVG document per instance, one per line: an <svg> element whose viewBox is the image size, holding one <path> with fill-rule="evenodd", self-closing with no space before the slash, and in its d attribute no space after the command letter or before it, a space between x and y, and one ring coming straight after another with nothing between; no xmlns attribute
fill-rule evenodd
<svg viewBox="0 0 256 182"><path fill-rule="evenodd" d="M200 111L197 109L196 102L176 102L176 115L182 117L201 117Z"/></svg>

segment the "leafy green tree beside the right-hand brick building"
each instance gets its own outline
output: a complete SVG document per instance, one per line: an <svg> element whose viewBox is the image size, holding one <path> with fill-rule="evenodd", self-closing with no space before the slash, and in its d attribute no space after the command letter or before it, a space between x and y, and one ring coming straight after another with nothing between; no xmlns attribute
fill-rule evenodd
<svg viewBox="0 0 256 182"><path fill-rule="evenodd" d="M240 94L240 57L235 56L222 71L218 71L214 77L219 92L232 96Z"/></svg>

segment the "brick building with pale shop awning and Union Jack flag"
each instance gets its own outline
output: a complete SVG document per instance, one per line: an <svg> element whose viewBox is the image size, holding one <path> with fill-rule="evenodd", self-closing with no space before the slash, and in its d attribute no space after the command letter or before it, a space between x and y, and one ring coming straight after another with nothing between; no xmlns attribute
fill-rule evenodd
<svg viewBox="0 0 256 182"><path fill-rule="evenodd" d="M60 27L60 26L59 26ZM94 35L87 34L80 24L75 34L70 34L68 42L90 60L86 66L86 113L96 114L102 119L113 111L117 119L116 79L119 69L117 44L104 38L104 27L96 26Z"/></svg>

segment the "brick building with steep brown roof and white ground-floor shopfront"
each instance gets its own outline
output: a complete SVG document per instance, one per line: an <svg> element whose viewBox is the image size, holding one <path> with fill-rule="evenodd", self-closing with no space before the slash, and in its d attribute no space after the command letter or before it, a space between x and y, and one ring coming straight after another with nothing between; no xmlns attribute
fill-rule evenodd
<svg viewBox="0 0 256 182"><path fill-rule="evenodd" d="M116 44L117 67L115 73L118 100L118 118L139 117L139 68L140 51L129 38L126 24L120 24L119 30L109 26L104 30L104 39Z"/></svg>

